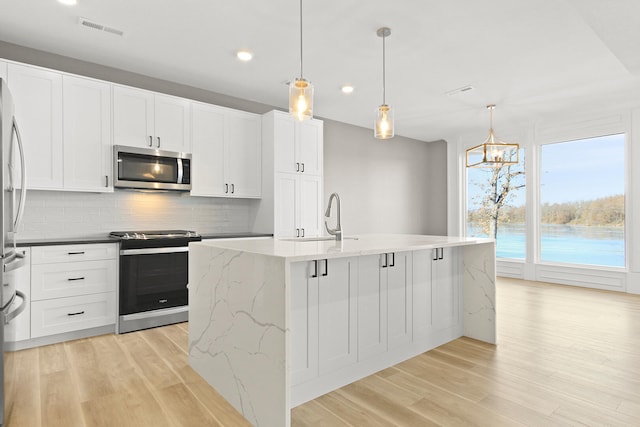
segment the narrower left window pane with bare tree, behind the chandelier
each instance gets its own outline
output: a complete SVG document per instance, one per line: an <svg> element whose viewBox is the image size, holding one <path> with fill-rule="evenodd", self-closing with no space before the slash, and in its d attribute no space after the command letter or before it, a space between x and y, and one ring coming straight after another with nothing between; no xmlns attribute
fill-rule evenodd
<svg viewBox="0 0 640 427"><path fill-rule="evenodd" d="M467 236L496 239L496 256L526 253L524 149L520 163L467 169Z"/></svg>

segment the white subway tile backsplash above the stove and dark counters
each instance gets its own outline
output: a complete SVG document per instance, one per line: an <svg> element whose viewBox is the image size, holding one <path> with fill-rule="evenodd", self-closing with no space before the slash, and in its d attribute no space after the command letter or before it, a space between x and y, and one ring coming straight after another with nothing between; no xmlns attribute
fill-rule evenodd
<svg viewBox="0 0 640 427"><path fill-rule="evenodd" d="M104 237L116 230L247 232L258 202L178 192L29 191L18 239Z"/></svg>

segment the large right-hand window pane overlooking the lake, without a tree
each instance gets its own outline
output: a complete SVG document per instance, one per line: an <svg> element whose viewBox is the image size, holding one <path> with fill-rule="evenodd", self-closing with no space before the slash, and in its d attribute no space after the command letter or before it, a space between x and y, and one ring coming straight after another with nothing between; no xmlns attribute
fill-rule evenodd
<svg viewBox="0 0 640 427"><path fill-rule="evenodd" d="M624 267L624 135L543 145L540 172L541 261Z"/></svg>

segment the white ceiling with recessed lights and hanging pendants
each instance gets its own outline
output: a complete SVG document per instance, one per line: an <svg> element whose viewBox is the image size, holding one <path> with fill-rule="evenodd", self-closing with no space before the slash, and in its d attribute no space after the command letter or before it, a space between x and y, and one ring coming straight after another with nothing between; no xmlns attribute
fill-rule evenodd
<svg viewBox="0 0 640 427"><path fill-rule="evenodd" d="M4 1L0 40L285 109L299 74L298 0ZM304 0L304 77L315 115L424 141L640 100L637 0ZM78 17L124 31L82 27ZM248 48L242 63L235 51ZM355 92L344 95L350 83ZM447 93L473 86L472 91Z"/></svg>

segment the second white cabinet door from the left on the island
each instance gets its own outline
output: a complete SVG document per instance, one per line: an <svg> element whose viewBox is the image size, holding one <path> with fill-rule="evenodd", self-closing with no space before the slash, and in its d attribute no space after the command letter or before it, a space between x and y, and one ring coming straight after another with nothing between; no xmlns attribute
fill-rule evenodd
<svg viewBox="0 0 640 427"><path fill-rule="evenodd" d="M318 370L334 372L357 361L358 258L318 261Z"/></svg>

